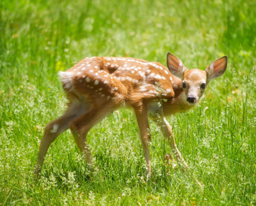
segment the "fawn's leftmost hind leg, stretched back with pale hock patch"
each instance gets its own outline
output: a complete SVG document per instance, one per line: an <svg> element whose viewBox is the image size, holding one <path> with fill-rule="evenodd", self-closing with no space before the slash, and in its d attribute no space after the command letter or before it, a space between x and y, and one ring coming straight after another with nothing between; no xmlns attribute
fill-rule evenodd
<svg viewBox="0 0 256 206"><path fill-rule="evenodd" d="M38 179L39 177L44 157L46 156L46 153L51 143L57 139L59 134L68 129L69 122L72 121L72 119L78 117L84 112L84 108L81 108L79 105L76 104L71 104L71 106L67 109L63 116L55 119L53 122L49 123L46 126L39 147L37 163L34 168L34 174L36 179Z"/></svg>

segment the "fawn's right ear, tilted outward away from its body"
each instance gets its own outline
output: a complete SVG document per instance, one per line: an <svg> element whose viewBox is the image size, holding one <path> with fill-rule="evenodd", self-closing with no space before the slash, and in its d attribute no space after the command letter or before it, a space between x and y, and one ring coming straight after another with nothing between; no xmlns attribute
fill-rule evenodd
<svg viewBox="0 0 256 206"><path fill-rule="evenodd" d="M227 65L228 65L228 57L227 56L224 56L224 57L221 57L221 58L215 60L205 70L205 72L207 74L207 79L212 80L212 79L216 79L216 78L222 76L222 74L224 74L224 72L227 69Z"/></svg>

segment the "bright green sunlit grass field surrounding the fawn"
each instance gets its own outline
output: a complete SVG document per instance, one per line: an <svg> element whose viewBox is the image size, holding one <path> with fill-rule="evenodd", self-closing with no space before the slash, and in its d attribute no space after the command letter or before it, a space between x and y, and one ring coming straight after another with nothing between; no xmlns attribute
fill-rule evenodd
<svg viewBox="0 0 256 206"><path fill-rule="evenodd" d="M0 205L256 205L255 16L249 0L0 1ZM93 56L165 65L169 51L202 70L229 58L200 106L168 118L189 172L163 161L171 149L150 123L146 181L134 115L119 110L88 134L100 173L67 131L34 183L44 126L65 110L58 71Z"/></svg>

